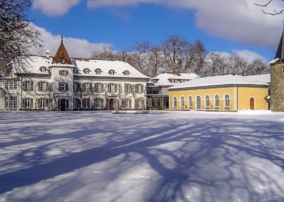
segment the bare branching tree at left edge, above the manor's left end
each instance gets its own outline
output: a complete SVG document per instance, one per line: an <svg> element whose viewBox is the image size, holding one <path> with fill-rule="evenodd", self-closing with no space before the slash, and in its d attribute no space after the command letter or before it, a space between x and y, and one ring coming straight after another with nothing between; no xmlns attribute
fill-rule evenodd
<svg viewBox="0 0 284 202"><path fill-rule="evenodd" d="M32 47L39 46L39 33L31 28L26 12L30 0L0 0L0 71L7 73L13 63L17 72L25 72L25 61ZM9 67L10 68L10 67Z"/></svg>

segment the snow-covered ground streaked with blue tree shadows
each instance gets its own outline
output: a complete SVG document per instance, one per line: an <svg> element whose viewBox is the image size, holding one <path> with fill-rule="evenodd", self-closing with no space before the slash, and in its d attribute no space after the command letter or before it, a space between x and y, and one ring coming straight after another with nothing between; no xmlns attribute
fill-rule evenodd
<svg viewBox="0 0 284 202"><path fill-rule="evenodd" d="M284 114L1 112L0 201L284 201Z"/></svg>

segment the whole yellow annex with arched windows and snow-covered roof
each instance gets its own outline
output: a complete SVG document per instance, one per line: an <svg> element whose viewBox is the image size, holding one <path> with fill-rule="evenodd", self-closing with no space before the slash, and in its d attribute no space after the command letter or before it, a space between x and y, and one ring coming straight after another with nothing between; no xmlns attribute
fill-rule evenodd
<svg viewBox="0 0 284 202"><path fill-rule="evenodd" d="M168 88L170 110L268 110L268 87L241 75L196 78Z"/></svg>

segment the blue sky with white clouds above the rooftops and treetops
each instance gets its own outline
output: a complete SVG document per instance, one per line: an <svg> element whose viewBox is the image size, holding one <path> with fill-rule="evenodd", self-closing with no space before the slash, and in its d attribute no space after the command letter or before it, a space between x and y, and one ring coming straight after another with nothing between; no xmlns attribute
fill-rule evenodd
<svg viewBox="0 0 284 202"><path fill-rule="evenodd" d="M104 44L124 50L135 41L158 45L168 36L179 35L192 43L200 39L209 52L236 53L247 60L261 57L268 62L283 28L280 16L261 13L250 0L216 0L209 10L209 0L177 0L176 4L167 0L58 1L34 0L28 14L51 54L61 33L70 55L80 57L89 57Z"/></svg>

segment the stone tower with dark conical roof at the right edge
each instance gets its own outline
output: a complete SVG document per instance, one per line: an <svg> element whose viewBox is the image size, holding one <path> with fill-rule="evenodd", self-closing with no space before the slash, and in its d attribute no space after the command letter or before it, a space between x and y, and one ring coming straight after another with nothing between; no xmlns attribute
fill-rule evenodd
<svg viewBox="0 0 284 202"><path fill-rule="evenodd" d="M271 111L284 111L284 31L271 64Z"/></svg>

